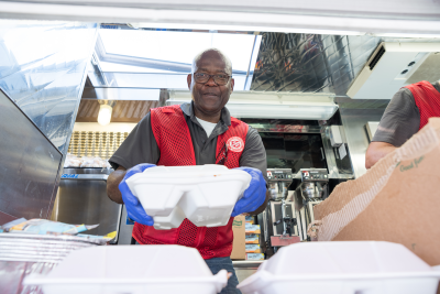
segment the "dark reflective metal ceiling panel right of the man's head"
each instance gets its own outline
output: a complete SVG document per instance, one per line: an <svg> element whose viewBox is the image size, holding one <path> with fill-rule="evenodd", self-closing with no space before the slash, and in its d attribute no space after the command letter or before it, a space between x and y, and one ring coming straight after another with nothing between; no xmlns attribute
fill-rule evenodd
<svg viewBox="0 0 440 294"><path fill-rule="evenodd" d="M345 96L381 42L440 42L370 35L263 33L251 90Z"/></svg>

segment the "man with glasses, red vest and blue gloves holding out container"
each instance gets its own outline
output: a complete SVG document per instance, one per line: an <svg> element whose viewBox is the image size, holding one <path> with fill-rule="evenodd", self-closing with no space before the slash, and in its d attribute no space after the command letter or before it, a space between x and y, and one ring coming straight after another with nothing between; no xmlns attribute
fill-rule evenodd
<svg viewBox="0 0 440 294"><path fill-rule="evenodd" d="M258 214L268 200L266 153L261 137L246 123L231 118L224 107L234 86L231 75L231 62L220 51L211 48L197 55L187 77L193 101L152 109L109 160L116 171L107 182L110 199L124 203L129 217L136 222L133 237L140 244L194 247L212 273L221 269L232 272L227 288L221 293L240 293L235 288L238 280L230 259L232 217L244 213ZM131 175L155 164L213 163L241 168L252 176L250 187L235 204L232 217L224 227L198 228L185 219L177 229L155 230L153 218L145 214L125 184Z"/></svg>

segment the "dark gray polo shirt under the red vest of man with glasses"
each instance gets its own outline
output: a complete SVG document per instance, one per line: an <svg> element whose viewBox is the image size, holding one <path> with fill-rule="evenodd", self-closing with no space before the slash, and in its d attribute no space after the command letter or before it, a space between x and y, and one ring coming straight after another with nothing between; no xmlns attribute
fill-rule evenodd
<svg viewBox="0 0 440 294"><path fill-rule="evenodd" d="M229 110L226 107L222 109L220 121L208 138L205 129L194 115L193 102L182 105L180 109L184 112L186 123L191 134L196 164L215 164L217 137L224 133L229 126L231 126L231 115ZM109 162L114 170L120 165L125 168L131 168L140 163L157 164L160 157L161 151L153 134L151 116L148 112L123 141ZM248 130L244 150L240 159L240 166L258 168L262 171L267 183L266 151L258 132L251 127L249 127Z"/></svg>

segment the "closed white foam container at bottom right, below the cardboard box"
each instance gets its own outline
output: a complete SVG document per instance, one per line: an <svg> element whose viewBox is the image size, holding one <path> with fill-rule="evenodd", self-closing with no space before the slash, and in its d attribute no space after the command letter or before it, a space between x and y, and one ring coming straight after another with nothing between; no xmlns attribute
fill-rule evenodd
<svg viewBox="0 0 440 294"><path fill-rule="evenodd" d="M436 268L397 243L295 243L238 287L243 294L436 294Z"/></svg>

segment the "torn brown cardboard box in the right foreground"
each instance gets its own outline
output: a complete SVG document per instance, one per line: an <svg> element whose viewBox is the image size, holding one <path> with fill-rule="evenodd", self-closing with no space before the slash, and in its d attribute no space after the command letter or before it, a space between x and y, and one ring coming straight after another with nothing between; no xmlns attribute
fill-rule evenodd
<svg viewBox="0 0 440 294"><path fill-rule="evenodd" d="M315 206L318 241L402 243L440 264L440 118Z"/></svg>

